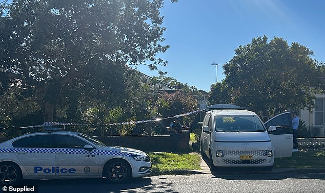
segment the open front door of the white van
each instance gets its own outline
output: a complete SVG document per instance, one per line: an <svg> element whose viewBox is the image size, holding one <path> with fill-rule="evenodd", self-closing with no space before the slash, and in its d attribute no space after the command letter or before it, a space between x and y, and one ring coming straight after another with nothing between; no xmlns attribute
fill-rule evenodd
<svg viewBox="0 0 325 193"><path fill-rule="evenodd" d="M274 157L291 157L293 147L291 113L285 112L278 114L265 122L264 125L271 138L274 148ZM270 128L270 126L275 126L275 128Z"/></svg>

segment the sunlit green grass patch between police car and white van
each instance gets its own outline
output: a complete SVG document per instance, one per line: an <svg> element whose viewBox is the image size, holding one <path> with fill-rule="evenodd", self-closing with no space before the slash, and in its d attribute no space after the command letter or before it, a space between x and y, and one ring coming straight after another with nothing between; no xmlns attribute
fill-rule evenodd
<svg viewBox="0 0 325 193"><path fill-rule="evenodd" d="M152 162L151 175L179 174L185 170L200 170L200 155L148 153Z"/></svg>

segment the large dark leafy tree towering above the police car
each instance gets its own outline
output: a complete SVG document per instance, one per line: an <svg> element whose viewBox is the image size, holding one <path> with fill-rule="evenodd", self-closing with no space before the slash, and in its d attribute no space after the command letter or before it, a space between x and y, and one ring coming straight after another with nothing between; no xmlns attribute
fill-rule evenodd
<svg viewBox="0 0 325 193"><path fill-rule="evenodd" d="M106 108L123 103L126 64L166 65L155 57L169 47L161 45L162 5L163 0L5 1L0 98L12 108L2 103L1 116L12 109L41 110L51 122L53 116L73 116L89 101L105 102Z"/></svg>

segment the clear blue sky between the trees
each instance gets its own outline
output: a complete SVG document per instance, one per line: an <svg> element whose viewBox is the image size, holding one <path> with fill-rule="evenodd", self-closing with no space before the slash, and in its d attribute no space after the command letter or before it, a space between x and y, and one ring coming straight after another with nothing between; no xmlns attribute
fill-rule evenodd
<svg viewBox="0 0 325 193"><path fill-rule="evenodd" d="M314 52L313 58L325 62L325 1L323 0L165 0L161 15L168 77L210 90L216 82L216 67L233 58L239 45L267 35L298 42ZM146 66L138 69L158 76ZM218 81L225 78L218 67Z"/></svg>

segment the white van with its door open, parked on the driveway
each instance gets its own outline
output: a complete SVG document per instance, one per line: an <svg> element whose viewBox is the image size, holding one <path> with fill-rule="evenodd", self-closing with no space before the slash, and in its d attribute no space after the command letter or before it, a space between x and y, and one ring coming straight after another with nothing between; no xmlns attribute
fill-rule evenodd
<svg viewBox="0 0 325 193"><path fill-rule="evenodd" d="M211 169L259 166L272 170L274 158L291 157L290 112L274 116L263 124L254 112L235 105L211 105L206 110L201 153L210 159Z"/></svg>

